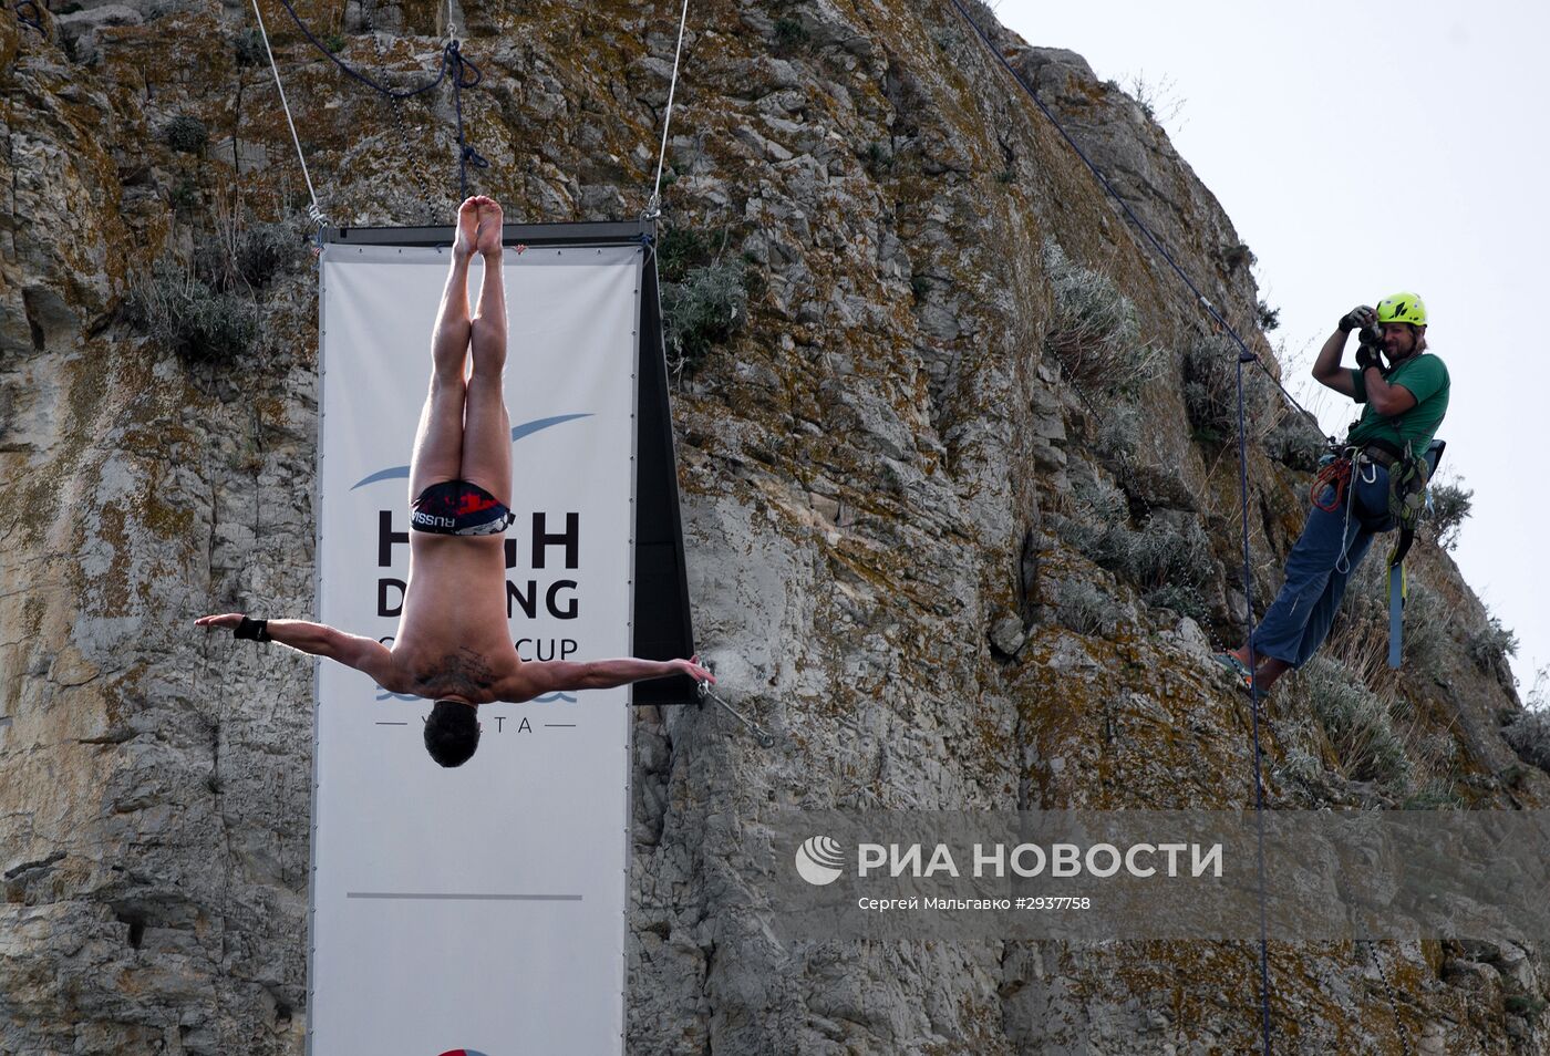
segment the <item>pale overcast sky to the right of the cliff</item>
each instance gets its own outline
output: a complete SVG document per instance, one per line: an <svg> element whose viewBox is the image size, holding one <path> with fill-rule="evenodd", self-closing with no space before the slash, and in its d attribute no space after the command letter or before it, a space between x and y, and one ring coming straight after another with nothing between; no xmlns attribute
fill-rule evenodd
<svg viewBox="0 0 1550 1056"><path fill-rule="evenodd" d="M1335 321L1421 295L1452 377L1442 478L1474 492L1454 560L1517 634L1527 693L1550 665L1538 549L1550 326L1536 319L1550 304L1550 5L990 3L1029 43L1077 51L1127 90L1150 85L1173 146L1259 257L1260 295L1280 309L1269 336L1296 371L1286 388L1325 433L1355 417L1307 377Z"/></svg>

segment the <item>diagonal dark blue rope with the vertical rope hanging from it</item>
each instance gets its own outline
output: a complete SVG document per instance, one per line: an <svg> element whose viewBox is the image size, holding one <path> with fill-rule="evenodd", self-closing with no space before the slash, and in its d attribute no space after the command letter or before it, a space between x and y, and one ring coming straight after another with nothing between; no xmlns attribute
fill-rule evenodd
<svg viewBox="0 0 1550 1056"><path fill-rule="evenodd" d="M1051 113L1049 107L1046 107L1045 102L1043 102L1043 99L1038 98L1038 93L1034 91L1034 87L1031 84L1028 84L1026 79L1023 79L1023 74L1020 74L1017 71L1017 68L1011 62L1006 60L1006 56L1003 56L1001 50L995 47L995 42L990 40L990 37L984 33L984 29L980 28L980 23L975 22L969 16L969 12L964 9L963 3L959 0L952 0L952 5L958 11L958 14L963 17L963 20L967 22L969 26L975 31L975 36L980 37L980 40L984 43L984 47L990 50L990 54L994 54L997 57L997 60L1006 68L1006 71L1012 74L1012 79L1017 81L1017 84L1020 84L1023 87L1023 91L1028 93L1028 98L1034 101L1034 105L1038 107L1038 110L1045 115L1045 118L1049 119L1049 124L1054 126L1056 132L1060 133L1060 138L1063 138L1066 141L1066 144L1073 150L1076 150L1076 157L1082 158L1082 163L1088 167L1088 172L1091 172L1097 178L1097 181L1104 186L1104 191L1107 191L1108 195L1114 202L1119 203L1119 208L1124 209L1124 212L1125 212L1127 217L1130 217L1130 222L1136 226L1136 229L1141 231L1141 234L1145 236L1147 242L1152 243L1152 248L1156 250L1158 254L1164 261L1167 261L1169 267L1173 268L1173 273L1180 279L1183 279L1184 285L1189 287L1190 293L1195 295L1195 299L1200 301L1200 304L1206 309L1206 312L1211 315L1211 318L1215 319L1217 326L1220 326L1232 338L1232 341L1238 346L1238 493L1242 496L1240 518L1242 518L1242 524L1243 524L1243 597L1246 599L1246 603L1248 603L1249 625L1252 626L1252 620L1254 620L1254 592L1252 592L1254 581L1252 581L1252 577L1254 577L1254 572L1252 572L1252 564L1249 561L1249 468L1248 468L1249 462L1248 462L1248 430L1245 426L1245 414L1243 414L1243 364L1245 363L1260 363L1260 358L1257 355L1254 355L1254 352L1249 349L1249 346L1243 343L1243 338L1238 336L1237 330L1232 329L1232 326L1221 316L1221 313L1217 312L1217 307L1190 281L1190 278L1184 273L1184 268L1181 268L1178 265L1178 262L1162 247L1162 243L1158 240L1158 237L1155 234L1152 234L1152 229L1145 223L1141 222L1141 217L1138 217L1135 214L1135 211L1130 208L1130 205L1119 195L1119 192L1104 177L1104 174L1097 169L1097 166L1093 164L1093 160L1087 157L1087 152L1082 150L1082 147L1077 144L1077 141L1071 138L1071 133L1066 132L1065 127L1056 119L1056 115ZM1273 381L1276 381L1276 388L1279 388L1286 395L1286 399L1291 400L1291 403L1299 411L1302 411L1304 414L1308 414L1308 411L1300 403L1297 403L1297 400L1293 399L1293 395L1290 392L1286 392L1285 386L1282 386L1280 381L1276 380L1276 375L1269 374L1269 371L1265 368L1263 363L1260 363L1260 368L1265 369L1265 374L1269 375L1269 378ZM1311 414L1308 414L1308 417L1313 419ZM1316 420L1318 419L1314 419L1314 422ZM1254 656L1254 637L1251 634L1249 636L1249 670L1252 671L1256 667L1257 667L1257 662L1256 662L1256 656ZM1271 1051L1271 1048L1269 1048L1269 943L1268 943L1266 924L1265 924L1265 777L1263 777L1263 755L1260 754L1260 737L1259 737L1259 727L1260 727L1260 695L1259 695L1259 684L1252 678L1249 679L1249 698L1251 698L1251 710L1252 710L1252 716L1254 716L1254 819L1256 819L1257 828L1259 828L1260 1031L1263 1034L1265 1056L1269 1056L1269 1051Z"/></svg>

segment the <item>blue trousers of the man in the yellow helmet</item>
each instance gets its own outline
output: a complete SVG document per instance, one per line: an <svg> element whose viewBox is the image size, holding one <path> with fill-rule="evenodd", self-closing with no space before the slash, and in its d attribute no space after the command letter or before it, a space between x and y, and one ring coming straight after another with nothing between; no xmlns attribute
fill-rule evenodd
<svg viewBox="0 0 1550 1056"><path fill-rule="evenodd" d="M1335 488L1319 496L1330 506ZM1302 537L1286 558L1286 583L1254 628L1256 657L1302 667L1330 634L1335 613L1356 566L1367 557L1372 538L1395 527L1389 513L1389 470L1356 465L1347 495L1335 512L1314 506Z"/></svg>

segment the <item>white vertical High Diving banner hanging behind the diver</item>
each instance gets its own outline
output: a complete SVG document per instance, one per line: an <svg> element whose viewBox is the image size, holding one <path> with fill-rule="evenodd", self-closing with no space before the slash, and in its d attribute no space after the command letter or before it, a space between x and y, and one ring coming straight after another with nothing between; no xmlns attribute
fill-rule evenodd
<svg viewBox="0 0 1550 1056"><path fill-rule="evenodd" d="M392 644L409 457L448 253L322 254L318 619ZM522 659L631 651L639 247L507 250ZM470 268L477 301L482 264ZM431 701L322 662L308 1053L618 1053L628 690L487 704L479 751L425 751Z"/></svg>

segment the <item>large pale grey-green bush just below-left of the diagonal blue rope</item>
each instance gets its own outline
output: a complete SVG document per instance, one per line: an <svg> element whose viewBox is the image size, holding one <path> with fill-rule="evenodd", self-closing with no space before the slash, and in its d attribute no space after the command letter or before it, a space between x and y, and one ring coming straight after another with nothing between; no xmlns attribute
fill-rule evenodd
<svg viewBox="0 0 1550 1056"><path fill-rule="evenodd" d="M1054 239L1045 240L1043 257L1056 301L1045 350L1080 388L1136 395L1164 357L1141 341L1135 305L1107 274L1073 264Z"/></svg>

